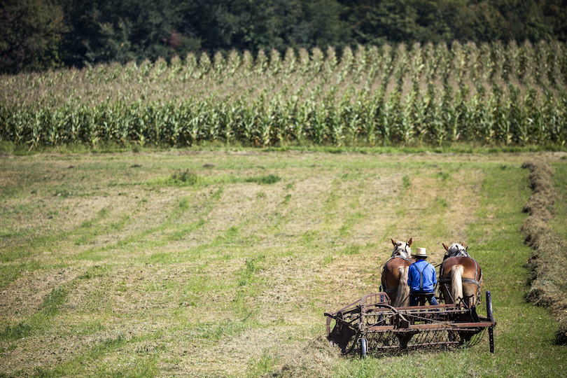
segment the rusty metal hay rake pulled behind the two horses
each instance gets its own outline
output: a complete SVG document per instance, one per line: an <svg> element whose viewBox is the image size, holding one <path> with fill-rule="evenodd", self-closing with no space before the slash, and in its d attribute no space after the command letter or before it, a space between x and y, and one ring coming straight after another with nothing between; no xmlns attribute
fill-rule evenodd
<svg viewBox="0 0 567 378"><path fill-rule="evenodd" d="M342 353L472 346L489 330L489 348L494 352L492 302L486 291L487 316L476 307L458 304L392 307L386 293L373 293L334 312L327 312L327 338ZM331 328L332 321L335 326Z"/></svg>

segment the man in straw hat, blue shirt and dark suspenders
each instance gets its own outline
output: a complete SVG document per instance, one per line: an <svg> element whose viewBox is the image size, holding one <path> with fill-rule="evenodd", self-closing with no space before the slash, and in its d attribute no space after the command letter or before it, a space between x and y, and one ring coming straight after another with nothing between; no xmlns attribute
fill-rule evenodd
<svg viewBox="0 0 567 378"><path fill-rule="evenodd" d="M418 295L427 295L429 304L438 304L435 299L435 268L426 261L426 248L417 248L413 257L416 259L409 265L407 285L409 286L409 305L416 306Z"/></svg>

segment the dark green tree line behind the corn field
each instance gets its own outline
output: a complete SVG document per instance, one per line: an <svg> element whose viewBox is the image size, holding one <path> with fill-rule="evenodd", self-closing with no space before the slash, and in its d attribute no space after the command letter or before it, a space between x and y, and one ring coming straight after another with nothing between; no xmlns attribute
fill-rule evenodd
<svg viewBox="0 0 567 378"><path fill-rule="evenodd" d="M564 0L0 0L0 72L189 52L566 41Z"/></svg>

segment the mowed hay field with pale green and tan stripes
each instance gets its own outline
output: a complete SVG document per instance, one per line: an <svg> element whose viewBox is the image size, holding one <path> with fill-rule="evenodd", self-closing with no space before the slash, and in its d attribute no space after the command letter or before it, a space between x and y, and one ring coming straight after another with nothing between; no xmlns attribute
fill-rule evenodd
<svg viewBox="0 0 567 378"><path fill-rule="evenodd" d="M564 377L526 303L526 160L566 153L141 151L0 158L0 377ZM563 231L561 231L563 230ZM496 353L339 355L324 311L379 290L393 239L465 241ZM484 295L483 295L484 296ZM481 314L486 314L484 300Z"/></svg>

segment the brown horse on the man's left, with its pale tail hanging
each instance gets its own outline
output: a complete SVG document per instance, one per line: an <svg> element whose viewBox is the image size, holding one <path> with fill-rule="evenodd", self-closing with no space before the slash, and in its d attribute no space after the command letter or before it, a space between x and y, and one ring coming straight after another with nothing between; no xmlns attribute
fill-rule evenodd
<svg viewBox="0 0 567 378"><path fill-rule="evenodd" d="M393 307L407 306L409 300L409 286L407 286L407 272L409 265L415 262L412 259L412 239L407 243L391 239L394 246L391 258L382 268L382 290L390 297Z"/></svg>

